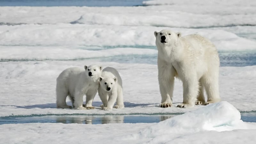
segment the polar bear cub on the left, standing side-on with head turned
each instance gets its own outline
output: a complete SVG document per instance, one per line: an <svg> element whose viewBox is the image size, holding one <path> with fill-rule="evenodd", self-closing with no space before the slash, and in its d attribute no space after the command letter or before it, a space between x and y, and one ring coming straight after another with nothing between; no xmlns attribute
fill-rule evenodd
<svg viewBox="0 0 256 144"><path fill-rule="evenodd" d="M92 101L99 88L99 77L102 67L84 66L84 68L67 68L60 73L56 84L57 108L72 108L66 103L69 96L73 108L93 109ZM83 96L86 95L85 107L83 107Z"/></svg>

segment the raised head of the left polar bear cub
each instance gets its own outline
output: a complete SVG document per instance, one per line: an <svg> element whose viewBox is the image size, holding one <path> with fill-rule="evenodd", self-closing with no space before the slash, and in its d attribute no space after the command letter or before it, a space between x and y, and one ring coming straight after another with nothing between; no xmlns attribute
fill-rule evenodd
<svg viewBox="0 0 256 144"><path fill-rule="evenodd" d="M88 75L90 78L97 80L99 79L101 72L102 72L102 67L101 66L96 66L96 65L91 65L91 66L84 66L85 73Z"/></svg>

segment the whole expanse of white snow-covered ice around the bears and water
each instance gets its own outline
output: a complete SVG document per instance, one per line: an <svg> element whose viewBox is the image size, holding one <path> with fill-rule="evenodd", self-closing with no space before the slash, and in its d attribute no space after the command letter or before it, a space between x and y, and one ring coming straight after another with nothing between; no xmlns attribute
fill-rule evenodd
<svg viewBox="0 0 256 144"><path fill-rule="evenodd" d="M220 67L219 103L176 108L182 102L182 83L176 80L174 107L159 108L153 35L162 29L183 36L198 33L219 52L243 52L246 57L256 50L255 2L154 0L136 7L0 7L0 117L182 114L155 124L0 122L0 143L255 143L256 124L243 122L240 112L256 111L256 66ZM222 56L227 63L234 61ZM92 64L119 71L125 108L101 110L98 94L93 110L56 108L60 72Z"/></svg>

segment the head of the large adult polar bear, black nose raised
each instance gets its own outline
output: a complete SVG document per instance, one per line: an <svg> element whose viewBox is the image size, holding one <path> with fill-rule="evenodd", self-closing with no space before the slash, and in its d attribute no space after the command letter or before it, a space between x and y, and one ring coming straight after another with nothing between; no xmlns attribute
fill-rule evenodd
<svg viewBox="0 0 256 144"><path fill-rule="evenodd" d="M174 45L180 38L181 34L172 32L171 30L161 30L160 32L155 31L154 35L156 37L156 45Z"/></svg>

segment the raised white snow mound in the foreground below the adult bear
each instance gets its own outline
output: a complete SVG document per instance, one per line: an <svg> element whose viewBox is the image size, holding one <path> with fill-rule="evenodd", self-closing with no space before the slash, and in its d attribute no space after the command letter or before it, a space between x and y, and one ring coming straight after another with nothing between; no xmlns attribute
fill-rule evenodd
<svg viewBox="0 0 256 144"><path fill-rule="evenodd" d="M241 120L240 112L232 104L221 101L159 122L142 130L140 135L155 138L166 134L234 129L248 129L248 126Z"/></svg>

